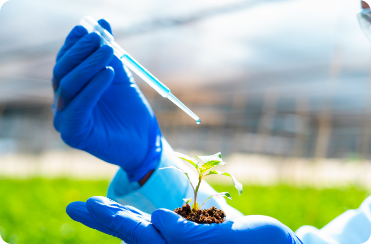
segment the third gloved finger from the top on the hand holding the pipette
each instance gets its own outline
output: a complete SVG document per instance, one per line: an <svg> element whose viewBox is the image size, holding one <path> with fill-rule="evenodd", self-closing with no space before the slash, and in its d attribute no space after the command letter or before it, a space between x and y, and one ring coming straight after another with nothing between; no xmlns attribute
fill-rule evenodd
<svg viewBox="0 0 371 244"><path fill-rule="evenodd" d="M55 94L56 110L63 110L82 88L111 62L112 57L112 48L104 45L61 79Z"/></svg>

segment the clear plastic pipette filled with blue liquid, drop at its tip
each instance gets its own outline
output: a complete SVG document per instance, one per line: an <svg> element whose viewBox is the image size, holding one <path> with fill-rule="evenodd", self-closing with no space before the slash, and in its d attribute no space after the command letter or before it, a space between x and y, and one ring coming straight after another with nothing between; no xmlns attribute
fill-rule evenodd
<svg viewBox="0 0 371 244"><path fill-rule="evenodd" d="M109 45L113 48L113 53L117 56L123 64L134 71L140 78L148 83L153 89L155 89L161 96L168 98L176 106L181 108L184 112L188 113L192 118L196 120L197 124L201 123L200 118L192 112L187 106L179 101L174 95L171 94L170 89L149 73L143 66L141 66L128 52L123 50L115 41L113 36L103 28L97 21L90 16L85 16L81 19L80 24L85 27L88 33L96 32L101 36L101 46Z"/></svg>

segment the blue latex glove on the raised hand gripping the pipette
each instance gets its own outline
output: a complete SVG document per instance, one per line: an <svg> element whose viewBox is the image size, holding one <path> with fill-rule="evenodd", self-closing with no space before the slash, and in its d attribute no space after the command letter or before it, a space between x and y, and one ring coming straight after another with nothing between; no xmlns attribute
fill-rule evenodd
<svg viewBox="0 0 371 244"><path fill-rule="evenodd" d="M111 33L107 21L98 22ZM161 132L131 73L100 40L76 26L60 49L52 79L54 127L68 145L139 181L159 163Z"/></svg>

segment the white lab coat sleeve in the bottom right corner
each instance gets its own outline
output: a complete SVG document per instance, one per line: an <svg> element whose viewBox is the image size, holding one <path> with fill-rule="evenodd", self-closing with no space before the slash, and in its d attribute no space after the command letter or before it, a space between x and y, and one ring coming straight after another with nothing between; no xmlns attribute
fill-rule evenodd
<svg viewBox="0 0 371 244"><path fill-rule="evenodd" d="M363 244L371 238L371 196L322 229L302 226L295 234L304 244Z"/></svg>

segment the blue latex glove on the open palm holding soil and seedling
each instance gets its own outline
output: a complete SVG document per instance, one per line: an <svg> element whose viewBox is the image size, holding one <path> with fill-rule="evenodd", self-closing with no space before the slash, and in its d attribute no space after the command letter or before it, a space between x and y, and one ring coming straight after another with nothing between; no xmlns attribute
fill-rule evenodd
<svg viewBox="0 0 371 244"><path fill-rule="evenodd" d="M128 244L147 243L254 243L299 244L294 232L267 216L243 216L222 224L196 224L167 209L152 216L105 197L73 202L68 215L90 228L119 237Z"/></svg>

